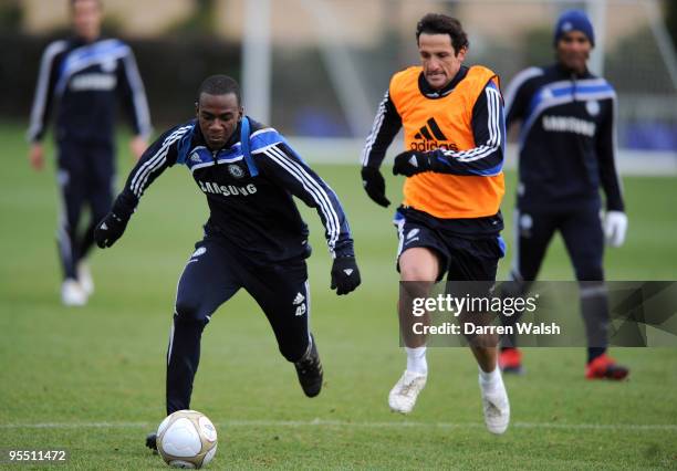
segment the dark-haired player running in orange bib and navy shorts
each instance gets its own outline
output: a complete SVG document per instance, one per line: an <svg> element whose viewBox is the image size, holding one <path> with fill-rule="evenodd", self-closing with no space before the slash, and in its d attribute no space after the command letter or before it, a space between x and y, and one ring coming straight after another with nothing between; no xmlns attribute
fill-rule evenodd
<svg viewBox="0 0 677 471"><path fill-rule="evenodd" d="M404 202L395 213L403 282L398 312L407 367L388 402L408 414L427 379L426 337L410 329L412 300L433 284L475 281L490 286L503 257L500 203L504 192L503 103L498 76L487 67L462 65L468 38L454 18L428 13L416 29L421 65L393 75L362 155L364 188L387 207L378 168L404 128L405 151L393 172L406 176ZM482 283L483 282L483 283ZM502 433L510 420L508 394L497 367L496 343L471 349L479 365L485 422Z"/></svg>

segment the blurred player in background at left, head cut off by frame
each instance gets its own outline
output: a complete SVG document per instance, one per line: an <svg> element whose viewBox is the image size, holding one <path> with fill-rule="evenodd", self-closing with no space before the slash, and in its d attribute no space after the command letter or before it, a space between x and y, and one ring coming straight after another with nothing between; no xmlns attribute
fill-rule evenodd
<svg viewBox="0 0 677 471"><path fill-rule="evenodd" d="M46 123L56 108L54 137L58 182L62 202L58 243L63 269L61 299L83 305L94 284L84 260L93 247L93 230L111 209L115 179L115 107L128 112L138 158L150 134L148 104L134 54L117 39L101 36L100 0L71 0L74 35L48 45L40 64L28 139L29 161L41 170L41 144ZM84 232L80 219L88 207L92 220Z"/></svg>

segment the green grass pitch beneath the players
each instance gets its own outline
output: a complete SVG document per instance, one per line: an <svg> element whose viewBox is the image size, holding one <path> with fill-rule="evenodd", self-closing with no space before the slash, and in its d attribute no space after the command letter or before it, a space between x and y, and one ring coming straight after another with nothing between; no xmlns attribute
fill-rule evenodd
<svg viewBox="0 0 677 471"><path fill-rule="evenodd" d="M176 281L200 237L204 197L185 169L168 170L147 191L124 239L94 254L90 304L64 308L53 166L34 174L22 129L6 124L0 132L0 449L65 448L70 469L162 469L142 440L164 416ZM126 142L119 148L122 179L132 160ZM329 290L323 230L304 210L315 249L312 324L325 388L316 399L303 397L264 316L238 294L205 333L192 398L218 427L210 468L677 468L676 349L616 349L633 369L624 384L585 381L582 348L529 349L528 375L507 378L512 426L493 437L481 422L471 355L436 348L415 412L390 414L387 393L404 368L392 212L367 200L356 166L316 169L344 202L363 285L347 297ZM675 280L674 178L624 182L631 229L626 245L607 253L608 276ZM388 179L390 199L398 187ZM508 190L513 193L512 174ZM509 196L507 221L511 206ZM510 245L510 224L504 236ZM509 264L510 254L501 278ZM558 240L542 279L571 278ZM579 316L576 307L571 315Z"/></svg>

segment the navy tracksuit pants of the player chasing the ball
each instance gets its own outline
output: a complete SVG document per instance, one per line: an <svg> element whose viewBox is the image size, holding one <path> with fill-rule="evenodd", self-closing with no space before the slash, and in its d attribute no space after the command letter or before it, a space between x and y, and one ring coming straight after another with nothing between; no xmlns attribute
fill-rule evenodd
<svg viewBox="0 0 677 471"><path fill-rule="evenodd" d="M273 329L280 353L298 362L310 345L310 287L304 259L262 263L220 237L196 244L179 280L167 349L167 414L189 409L202 331L243 287Z"/></svg>

